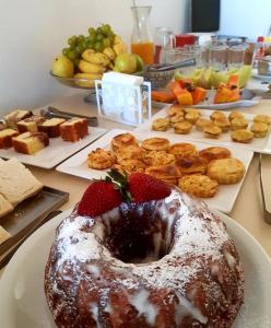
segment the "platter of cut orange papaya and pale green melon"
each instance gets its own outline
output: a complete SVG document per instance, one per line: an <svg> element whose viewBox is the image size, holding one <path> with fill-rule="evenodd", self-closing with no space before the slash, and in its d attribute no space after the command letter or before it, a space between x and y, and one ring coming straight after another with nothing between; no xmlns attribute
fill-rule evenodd
<svg viewBox="0 0 271 328"><path fill-rule="evenodd" d="M249 66L226 73L215 72L212 68L197 69L190 75L176 73L166 89L152 91L153 105L161 107L160 105L175 103L205 109L254 106L258 103L257 99L243 99L243 87L250 74Z"/></svg>

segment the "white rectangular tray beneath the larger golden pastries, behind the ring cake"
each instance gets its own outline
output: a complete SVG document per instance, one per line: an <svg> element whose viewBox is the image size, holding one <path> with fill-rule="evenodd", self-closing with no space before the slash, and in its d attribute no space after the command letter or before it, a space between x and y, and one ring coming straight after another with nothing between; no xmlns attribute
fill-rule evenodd
<svg viewBox="0 0 271 328"><path fill-rule="evenodd" d="M86 179L99 179L104 178L106 176L106 171L98 171L98 169L93 169L87 167L86 159L87 154L97 149L97 148L103 148L109 150L110 141L113 137L128 132L125 130L120 129L115 129L103 137L101 137L98 140L96 140L94 143L89 145L87 148L83 149L81 152L76 153L66 162L61 163L59 166L57 166L57 171L67 173L70 175L75 175L79 177L83 177ZM131 132L131 131L129 131ZM154 136L154 133L138 133L138 132L131 132L136 136L138 141L143 141L144 139L151 138ZM166 138L172 142L181 142L184 141L181 136L178 134L173 134L173 136L166 136ZM210 144L202 143L202 142L193 142L193 144L197 147L198 150L201 150L203 148L210 147ZM248 166L250 164L250 161L252 159L254 153L251 151L247 150L240 150L238 148L235 148L232 145L228 148L233 154L233 157L239 159L246 166L246 171L248 169ZM244 176L245 178L245 176ZM215 208L224 213L229 213L234 207L235 200L238 196L238 192L240 190L243 180L239 181L238 184L234 185L224 185L219 187L217 194L213 198L208 198L204 199L205 202L211 206L212 208Z"/></svg>

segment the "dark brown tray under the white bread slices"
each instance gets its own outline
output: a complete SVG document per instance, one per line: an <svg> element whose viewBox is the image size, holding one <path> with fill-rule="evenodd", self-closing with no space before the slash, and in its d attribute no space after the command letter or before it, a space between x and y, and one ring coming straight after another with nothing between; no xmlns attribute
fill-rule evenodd
<svg viewBox="0 0 271 328"><path fill-rule="evenodd" d="M24 200L14 211L1 218L0 225L11 234L11 237L0 245L0 257L68 199L68 192L44 187L36 196Z"/></svg>

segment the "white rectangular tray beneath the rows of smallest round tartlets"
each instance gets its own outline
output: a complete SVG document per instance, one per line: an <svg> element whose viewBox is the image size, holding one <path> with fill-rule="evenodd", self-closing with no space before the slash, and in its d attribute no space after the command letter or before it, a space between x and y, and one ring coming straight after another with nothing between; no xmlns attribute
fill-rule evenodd
<svg viewBox="0 0 271 328"><path fill-rule="evenodd" d="M267 134L266 138L254 138L254 140L250 143L240 143L240 142L234 142L232 141L231 138L231 131L221 133L219 139L211 139L211 138L205 138L202 131L198 131L196 127L192 127L192 130L188 134L177 134L174 132L173 128L169 128L167 131L153 131L152 130L152 121L156 118L162 118L162 117L167 117L167 110L168 106L165 106L163 109L161 109L158 113L156 113L153 117L152 120L148 120L141 126L139 126L134 131L139 133L149 133L152 132L153 134L156 134L157 137L164 137L168 138L169 136L178 136L180 140L190 140L190 141L200 141L200 142L207 142L210 144L219 144L219 145L224 145L224 147L234 147L238 149L244 149L244 150L250 150L257 153L263 153L263 154L271 154L271 133ZM214 110L209 110L209 109L202 109L200 110L201 117L204 118L210 118L210 115ZM226 116L231 114L231 112L222 112ZM249 121L249 127L251 126L254 121L254 117L256 115L254 114L246 114L243 113L246 117L246 119ZM259 113L260 114L260 113Z"/></svg>

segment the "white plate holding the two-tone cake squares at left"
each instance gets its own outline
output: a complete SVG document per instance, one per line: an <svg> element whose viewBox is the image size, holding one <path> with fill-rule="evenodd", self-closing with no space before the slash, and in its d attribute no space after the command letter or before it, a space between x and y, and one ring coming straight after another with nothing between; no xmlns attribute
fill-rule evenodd
<svg viewBox="0 0 271 328"><path fill-rule="evenodd" d="M89 136L76 142L63 141L59 138L50 138L49 145L40 150L34 155L26 155L17 153L10 149L0 149L0 157L11 159L16 157L20 162L28 165L34 165L43 168L52 168L72 154L76 153L94 140L106 132L102 128L89 128Z"/></svg>

